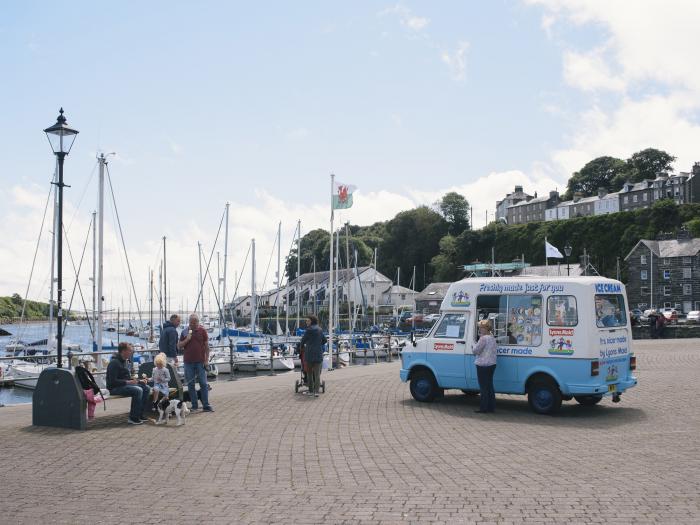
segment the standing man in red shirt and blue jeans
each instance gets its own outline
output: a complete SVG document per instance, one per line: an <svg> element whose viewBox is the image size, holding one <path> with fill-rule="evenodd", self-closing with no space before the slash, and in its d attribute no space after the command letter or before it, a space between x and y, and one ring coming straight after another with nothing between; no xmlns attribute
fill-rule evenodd
<svg viewBox="0 0 700 525"><path fill-rule="evenodd" d="M185 362L185 381L190 393L192 410L198 410L197 391L195 390L195 377L199 381L199 392L202 396L202 405L205 412L214 412L209 404L209 385L207 384L207 371L204 366L209 362L209 335L199 324L197 314L190 315L190 325L187 334L180 336L178 348L184 349L182 359Z"/></svg>

